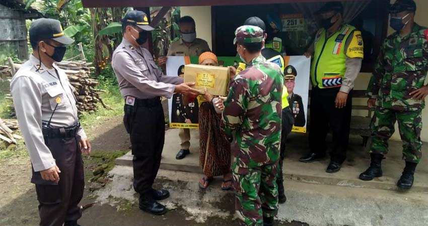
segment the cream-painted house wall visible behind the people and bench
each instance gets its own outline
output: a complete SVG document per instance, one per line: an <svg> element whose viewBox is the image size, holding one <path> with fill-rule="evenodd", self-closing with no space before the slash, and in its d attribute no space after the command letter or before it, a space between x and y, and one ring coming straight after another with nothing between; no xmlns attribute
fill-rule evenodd
<svg viewBox="0 0 428 226"><path fill-rule="evenodd" d="M395 2L392 0L391 2ZM426 16L426 9L428 9L428 1L427 0L415 0L417 5L417 12L415 15L415 21L421 26L428 27L428 17ZM199 38L206 40L211 47L211 7L181 7L181 15L182 16L191 16L196 21L196 30ZM393 30L391 28L388 29L388 35L392 34ZM362 90L367 88L367 84L370 80L370 73L360 73L359 77L355 81L355 89ZM426 82L428 83L428 78ZM428 104L428 97L425 99ZM365 104L367 99L354 99L354 104ZM365 115L367 111L353 111L354 115ZM421 139L424 142L428 142L428 107L426 107L422 112L422 134ZM398 133L398 127L395 126L396 132L393 135L393 140L400 140L400 134Z"/></svg>

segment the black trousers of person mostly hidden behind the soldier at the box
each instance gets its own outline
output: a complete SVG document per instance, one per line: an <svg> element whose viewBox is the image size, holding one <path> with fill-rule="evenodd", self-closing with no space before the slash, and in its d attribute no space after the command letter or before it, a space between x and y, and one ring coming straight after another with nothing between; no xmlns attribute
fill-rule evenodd
<svg viewBox="0 0 428 226"><path fill-rule="evenodd" d="M287 136L291 133L294 125L294 117L293 112L291 111L290 107L286 107L282 109L281 114L281 146L280 146L280 159L279 159L279 175L276 179L276 183L278 184L278 192L284 192L284 186L282 185L282 182L284 181L283 175L282 175L282 162L284 160L284 157L286 156L286 141Z"/></svg>

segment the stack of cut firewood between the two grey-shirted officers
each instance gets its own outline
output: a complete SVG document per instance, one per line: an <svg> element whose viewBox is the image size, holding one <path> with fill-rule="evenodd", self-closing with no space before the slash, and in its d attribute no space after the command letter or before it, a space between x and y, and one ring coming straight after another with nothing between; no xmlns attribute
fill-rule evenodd
<svg viewBox="0 0 428 226"><path fill-rule="evenodd" d="M89 78L94 67L92 63L85 61L61 61L55 63L59 68L65 70L70 84L74 88L79 112L95 112L97 103L100 102L105 108L109 108L100 98L100 92L105 90L97 89L98 81Z"/></svg>

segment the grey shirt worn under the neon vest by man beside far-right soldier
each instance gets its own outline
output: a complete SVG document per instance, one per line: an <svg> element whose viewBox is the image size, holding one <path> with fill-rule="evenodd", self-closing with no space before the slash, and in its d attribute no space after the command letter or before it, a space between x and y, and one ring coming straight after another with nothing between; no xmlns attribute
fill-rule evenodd
<svg viewBox="0 0 428 226"><path fill-rule="evenodd" d="M328 33L327 36L330 38L334 33ZM345 43L345 51L348 49L349 44L351 43L353 38L353 32L351 32L348 36L348 39ZM308 52L310 52L312 55L315 52L315 43L312 43L311 46L308 49ZM346 52L345 52L346 53ZM346 56L345 65L346 65L346 71L343 75L342 85L340 86L340 91L349 93L351 89L353 89L355 79L358 77L358 74L361 70L361 65L363 63L363 58L355 57L350 58Z"/></svg>

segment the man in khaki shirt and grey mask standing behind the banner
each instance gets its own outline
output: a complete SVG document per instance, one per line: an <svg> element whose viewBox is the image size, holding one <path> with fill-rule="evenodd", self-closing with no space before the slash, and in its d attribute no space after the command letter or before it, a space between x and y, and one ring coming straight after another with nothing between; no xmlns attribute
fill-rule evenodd
<svg viewBox="0 0 428 226"><path fill-rule="evenodd" d="M196 25L193 18L182 17L178 22L180 26L181 39L173 42L168 49L168 56L199 56L204 52L210 52L208 43L205 40L196 38ZM164 65L167 57L159 57L158 63ZM190 130L179 129L181 149L177 153L176 159L183 159L190 153Z"/></svg>

